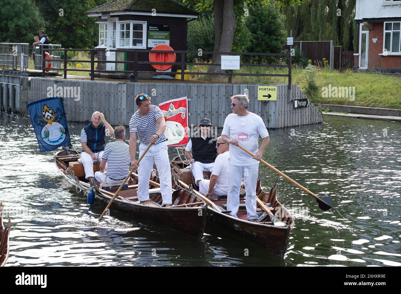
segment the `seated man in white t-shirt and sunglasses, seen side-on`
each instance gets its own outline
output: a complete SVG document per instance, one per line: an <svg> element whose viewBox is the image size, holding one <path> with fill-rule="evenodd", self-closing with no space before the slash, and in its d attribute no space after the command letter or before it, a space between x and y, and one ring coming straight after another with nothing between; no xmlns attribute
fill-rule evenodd
<svg viewBox="0 0 401 294"><path fill-rule="evenodd" d="M221 137L216 140L217 155L210 180L201 180L199 192L205 197L219 200L219 196L227 196L228 192L228 159L230 144L224 143ZM214 196L214 197L213 197Z"/></svg>

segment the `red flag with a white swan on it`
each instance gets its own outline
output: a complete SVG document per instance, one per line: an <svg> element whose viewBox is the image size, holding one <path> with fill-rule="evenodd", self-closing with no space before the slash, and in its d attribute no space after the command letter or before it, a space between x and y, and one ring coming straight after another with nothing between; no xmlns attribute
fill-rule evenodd
<svg viewBox="0 0 401 294"><path fill-rule="evenodd" d="M164 119L168 146L188 144L188 101L185 97L168 100L159 104Z"/></svg>

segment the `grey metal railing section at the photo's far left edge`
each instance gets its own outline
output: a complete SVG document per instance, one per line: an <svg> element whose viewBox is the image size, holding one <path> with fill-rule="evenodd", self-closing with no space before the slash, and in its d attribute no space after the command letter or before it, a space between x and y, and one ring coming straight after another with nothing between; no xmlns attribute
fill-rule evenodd
<svg viewBox="0 0 401 294"><path fill-rule="evenodd" d="M21 71L28 68L29 44L28 43L0 43L0 66L3 70Z"/></svg>

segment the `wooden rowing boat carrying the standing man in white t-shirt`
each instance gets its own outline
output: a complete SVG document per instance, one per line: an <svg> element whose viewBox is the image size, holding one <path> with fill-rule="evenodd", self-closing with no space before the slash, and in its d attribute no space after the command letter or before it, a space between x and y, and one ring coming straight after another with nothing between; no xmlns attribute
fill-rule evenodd
<svg viewBox="0 0 401 294"><path fill-rule="evenodd" d="M192 184L191 170L186 168L186 164L183 162L184 156L177 156L171 161L172 173L176 175L177 180L173 188L176 189L178 186L183 187L184 184ZM274 226L270 221L269 217L261 208L257 208L257 214L260 216L258 222L250 222L247 220L247 214L245 210L245 189L241 186L240 191L240 208L235 218L227 212L220 212L219 210L213 208L213 206L208 206L208 219L212 222L220 224L227 230L231 230L236 234L247 238L261 246L265 247L271 253L284 256L286 252L288 238L290 235L290 230L294 226L294 219L288 210L277 200L277 184L274 184L270 189L269 193L266 193L261 188L260 184L261 174L257 180L256 194L257 197L264 203L270 204L267 208L270 209L273 214L277 216L279 220L285 223L285 226ZM198 193L194 191L195 193ZM220 198L219 200L213 200L213 204L224 208L226 210L227 198Z"/></svg>

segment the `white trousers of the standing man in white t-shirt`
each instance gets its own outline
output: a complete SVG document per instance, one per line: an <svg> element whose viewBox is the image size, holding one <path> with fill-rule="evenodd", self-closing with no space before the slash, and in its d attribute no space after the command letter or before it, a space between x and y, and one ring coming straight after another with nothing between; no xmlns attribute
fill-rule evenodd
<svg viewBox="0 0 401 294"><path fill-rule="evenodd" d="M244 184L246 192L245 206L247 208L247 218L252 220L256 215L256 183L259 164L251 166L228 165L228 194L227 210L231 211L231 216L237 218L239 209L239 190L244 175Z"/></svg>

